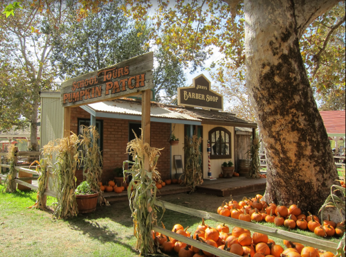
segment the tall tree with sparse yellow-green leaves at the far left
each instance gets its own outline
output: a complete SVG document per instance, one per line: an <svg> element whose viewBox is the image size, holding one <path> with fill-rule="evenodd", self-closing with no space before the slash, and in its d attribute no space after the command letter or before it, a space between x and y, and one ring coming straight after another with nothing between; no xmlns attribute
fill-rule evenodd
<svg viewBox="0 0 346 257"><path fill-rule="evenodd" d="M11 1L1 0L1 8ZM72 1L69 1L72 3ZM39 117L39 91L55 87L55 67L50 66L51 39L65 19L66 3L57 1L23 1L22 10L17 7L15 15L0 10L0 124L30 123L30 148L38 150L37 119ZM43 11L44 10L44 11ZM8 16L8 17L6 17Z"/></svg>

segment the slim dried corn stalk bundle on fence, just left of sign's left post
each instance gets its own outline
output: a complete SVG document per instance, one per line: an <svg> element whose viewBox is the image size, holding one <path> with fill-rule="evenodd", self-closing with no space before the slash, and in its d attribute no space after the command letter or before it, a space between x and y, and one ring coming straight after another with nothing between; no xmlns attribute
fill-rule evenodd
<svg viewBox="0 0 346 257"><path fill-rule="evenodd" d="M45 209L46 203L43 202L44 192L46 190L48 184L48 176L49 176L49 168L52 167L52 154L54 150L54 142L50 141L48 144L44 145L44 149L42 151L43 158L39 161L34 161L33 164L37 164L36 171L41 173L38 179L39 188L37 189L37 200L33 206L30 208L35 209Z"/></svg>

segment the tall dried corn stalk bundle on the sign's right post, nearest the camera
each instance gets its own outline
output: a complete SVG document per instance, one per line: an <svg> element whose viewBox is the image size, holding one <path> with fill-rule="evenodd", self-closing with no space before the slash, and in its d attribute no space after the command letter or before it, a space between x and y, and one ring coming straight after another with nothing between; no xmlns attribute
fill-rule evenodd
<svg viewBox="0 0 346 257"><path fill-rule="evenodd" d="M140 254L154 253L154 240L152 238L152 226L157 224L156 186L155 181L161 181L160 174L156 170L158 161L158 148L152 148L143 142L142 136L127 143L127 153L131 154L134 162L124 161L123 170L132 175L132 180L127 188L129 206L134 220L134 236L137 238L135 249ZM145 170L145 159L149 159L149 170ZM129 170L125 170L125 164L132 164ZM131 191L131 188L134 188Z"/></svg>

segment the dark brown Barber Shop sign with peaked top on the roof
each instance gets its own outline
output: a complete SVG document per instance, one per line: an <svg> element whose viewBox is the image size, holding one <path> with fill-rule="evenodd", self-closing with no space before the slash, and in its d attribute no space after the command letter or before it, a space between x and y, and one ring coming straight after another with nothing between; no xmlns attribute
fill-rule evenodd
<svg viewBox="0 0 346 257"><path fill-rule="evenodd" d="M193 79L192 87L178 88L178 105L224 111L222 95L210 89L210 81L203 74Z"/></svg>

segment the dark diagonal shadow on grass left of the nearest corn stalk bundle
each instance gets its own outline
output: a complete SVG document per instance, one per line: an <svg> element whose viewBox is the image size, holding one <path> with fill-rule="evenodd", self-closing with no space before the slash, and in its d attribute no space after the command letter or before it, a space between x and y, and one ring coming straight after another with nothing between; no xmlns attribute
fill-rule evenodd
<svg viewBox="0 0 346 257"><path fill-rule="evenodd" d="M89 216L88 216L89 219ZM118 245L122 245L123 247L129 249L129 251L133 252L134 254L138 254L137 251L133 249L131 245L126 244L125 242L122 242L122 240L118 240L116 236L119 235L119 233L114 233L112 231L107 230L107 226L102 226L98 224L98 222L95 221L88 221L84 220L84 218L74 218L72 220L67 220L70 224L70 229L73 229L75 231L80 231L85 236L89 236L91 238L94 238L96 240L99 240L102 243L106 242L113 242ZM129 239L129 238L127 238Z"/></svg>

